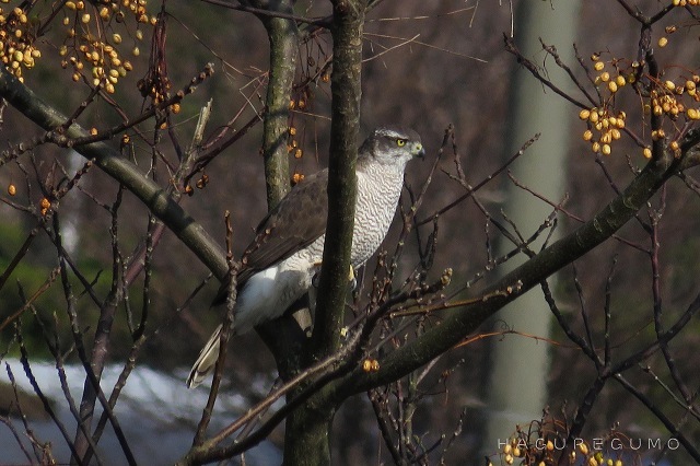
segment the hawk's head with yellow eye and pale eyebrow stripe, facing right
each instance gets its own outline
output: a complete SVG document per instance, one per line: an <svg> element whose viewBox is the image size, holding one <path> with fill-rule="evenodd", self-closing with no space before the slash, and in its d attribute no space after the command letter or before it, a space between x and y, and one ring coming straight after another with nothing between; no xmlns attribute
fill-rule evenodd
<svg viewBox="0 0 700 466"><path fill-rule="evenodd" d="M359 161L397 165L404 168L415 158L423 159L425 149L418 132L400 126L385 126L375 129L360 147Z"/></svg>

